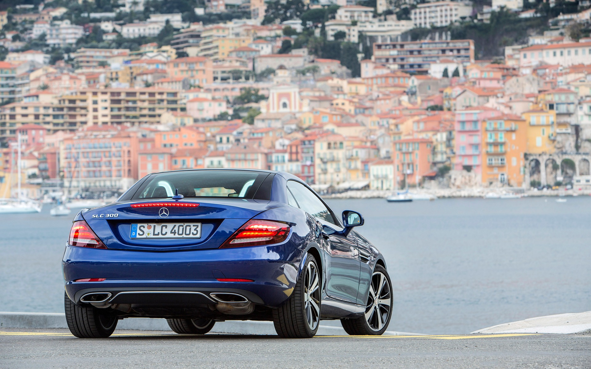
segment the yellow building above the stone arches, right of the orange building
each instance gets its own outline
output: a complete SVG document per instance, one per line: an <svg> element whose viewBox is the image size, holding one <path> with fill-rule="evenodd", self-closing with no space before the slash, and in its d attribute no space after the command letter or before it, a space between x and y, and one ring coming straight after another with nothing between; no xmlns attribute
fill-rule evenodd
<svg viewBox="0 0 591 369"><path fill-rule="evenodd" d="M528 110L522 113L527 125L528 154L551 154L556 141L556 110Z"/></svg>

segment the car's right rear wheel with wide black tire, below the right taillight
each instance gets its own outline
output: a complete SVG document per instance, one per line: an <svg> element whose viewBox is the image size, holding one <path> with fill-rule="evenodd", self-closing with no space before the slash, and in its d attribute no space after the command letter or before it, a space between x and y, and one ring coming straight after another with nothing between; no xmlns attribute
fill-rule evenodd
<svg viewBox="0 0 591 369"><path fill-rule="evenodd" d="M282 338L312 338L320 325L322 270L312 254L307 254L306 264L302 270L291 297L283 306L273 309L275 331ZM309 277L308 270L314 270L317 280L314 275ZM312 293L307 295L309 289ZM311 303L310 299L313 299L314 303Z"/></svg>

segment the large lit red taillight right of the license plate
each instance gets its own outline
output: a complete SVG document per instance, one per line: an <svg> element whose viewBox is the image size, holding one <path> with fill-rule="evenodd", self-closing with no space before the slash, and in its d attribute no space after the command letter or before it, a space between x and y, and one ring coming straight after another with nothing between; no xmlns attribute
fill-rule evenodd
<svg viewBox="0 0 591 369"><path fill-rule="evenodd" d="M242 247L280 243L287 239L290 226L271 220L249 220L220 246Z"/></svg>

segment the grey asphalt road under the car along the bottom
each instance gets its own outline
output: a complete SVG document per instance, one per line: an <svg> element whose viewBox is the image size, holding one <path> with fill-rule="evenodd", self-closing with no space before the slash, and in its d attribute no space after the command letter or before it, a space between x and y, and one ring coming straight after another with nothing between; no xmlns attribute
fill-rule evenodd
<svg viewBox="0 0 591 369"><path fill-rule="evenodd" d="M184 336L0 329L0 368L591 368L591 334Z"/></svg>

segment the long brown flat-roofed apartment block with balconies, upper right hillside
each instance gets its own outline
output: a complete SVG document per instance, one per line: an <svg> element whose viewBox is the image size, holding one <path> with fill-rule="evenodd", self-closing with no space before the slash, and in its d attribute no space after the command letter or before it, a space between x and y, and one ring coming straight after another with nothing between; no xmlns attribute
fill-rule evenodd
<svg viewBox="0 0 591 369"><path fill-rule="evenodd" d="M374 43L376 64L400 71L427 73L432 63L454 59L463 66L474 63L473 40Z"/></svg>

